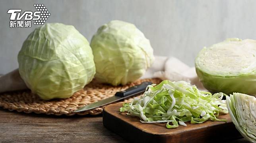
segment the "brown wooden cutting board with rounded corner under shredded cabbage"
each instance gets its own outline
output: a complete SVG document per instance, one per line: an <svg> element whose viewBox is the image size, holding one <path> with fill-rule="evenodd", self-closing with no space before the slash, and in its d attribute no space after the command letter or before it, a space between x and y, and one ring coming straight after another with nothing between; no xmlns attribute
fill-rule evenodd
<svg viewBox="0 0 256 143"><path fill-rule="evenodd" d="M223 142L242 138L229 114L218 117L218 119L227 119L227 122L206 121L202 124L186 122L187 126L179 125L177 128L168 129L165 123L143 124L138 117L121 113L120 107L122 103L108 105L104 108L103 125L131 142Z"/></svg>

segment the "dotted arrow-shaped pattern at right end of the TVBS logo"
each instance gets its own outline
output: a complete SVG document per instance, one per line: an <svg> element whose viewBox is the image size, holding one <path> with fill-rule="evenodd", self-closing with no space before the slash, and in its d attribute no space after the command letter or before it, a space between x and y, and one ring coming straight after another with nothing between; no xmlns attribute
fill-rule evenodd
<svg viewBox="0 0 256 143"><path fill-rule="evenodd" d="M40 19L36 20L34 22L35 25L43 25L45 23L45 21L47 21L47 19L50 16L50 12L48 11L48 9L44 6L44 4L34 4L35 8L37 9L37 11L40 11Z"/></svg>

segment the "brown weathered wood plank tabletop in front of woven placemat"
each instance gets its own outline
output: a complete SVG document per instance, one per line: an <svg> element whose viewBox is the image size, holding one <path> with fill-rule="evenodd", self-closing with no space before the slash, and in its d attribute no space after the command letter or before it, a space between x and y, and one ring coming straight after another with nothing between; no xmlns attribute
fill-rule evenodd
<svg viewBox="0 0 256 143"><path fill-rule="evenodd" d="M27 114L0 108L0 142L127 143L98 116ZM234 141L232 141L234 142ZM235 142L246 142L239 139Z"/></svg>

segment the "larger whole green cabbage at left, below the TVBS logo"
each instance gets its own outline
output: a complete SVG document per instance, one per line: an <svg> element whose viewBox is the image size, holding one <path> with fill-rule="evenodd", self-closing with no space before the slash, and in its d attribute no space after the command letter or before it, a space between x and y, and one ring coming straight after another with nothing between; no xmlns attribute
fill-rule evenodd
<svg viewBox="0 0 256 143"><path fill-rule="evenodd" d="M36 28L18 54L19 73L44 100L68 98L95 75L93 53L74 26L49 23Z"/></svg>

